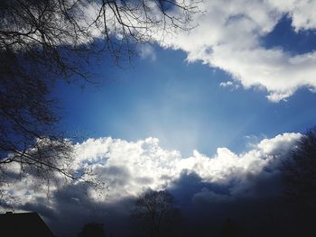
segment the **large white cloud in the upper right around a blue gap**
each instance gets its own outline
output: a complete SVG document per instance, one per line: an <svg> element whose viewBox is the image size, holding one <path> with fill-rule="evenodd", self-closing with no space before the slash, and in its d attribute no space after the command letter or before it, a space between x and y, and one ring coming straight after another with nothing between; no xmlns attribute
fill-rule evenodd
<svg viewBox="0 0 316 237"><path fill-rule="evenodd" d="M186 51L189 61L227 71L245 88L265 89L270 101L279 102L300 87L316 87L316 53L265 49L261 40L285 15L292 18L296 32L315 29L315 9L316 3L308 0L204 1L204 14L193 17L199 26L166 39L163 46Z"/></svg>

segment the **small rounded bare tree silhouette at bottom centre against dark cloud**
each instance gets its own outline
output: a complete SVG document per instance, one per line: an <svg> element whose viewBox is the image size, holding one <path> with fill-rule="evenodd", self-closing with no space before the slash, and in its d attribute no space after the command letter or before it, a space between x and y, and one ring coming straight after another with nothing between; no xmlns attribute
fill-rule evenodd
<svg viewBox="0 0 316 237"><path fill-rule="evenodd" d="M148 190L137 198L131 219L138 224L137 236L175 236L181 214L168 191Z"/></svg>

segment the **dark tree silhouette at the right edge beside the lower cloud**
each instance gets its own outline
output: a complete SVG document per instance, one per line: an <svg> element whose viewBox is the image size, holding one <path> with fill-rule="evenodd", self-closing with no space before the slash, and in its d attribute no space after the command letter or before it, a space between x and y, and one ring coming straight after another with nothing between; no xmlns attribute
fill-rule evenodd
<svg viewBox="0 0 316 237"><path fill-rule="evenodd" d="M297 232L314 236L316 230L316 128L296 143L289 159L283 162L283 199ZM297 235L296 235L297 236Z"/></svg>

